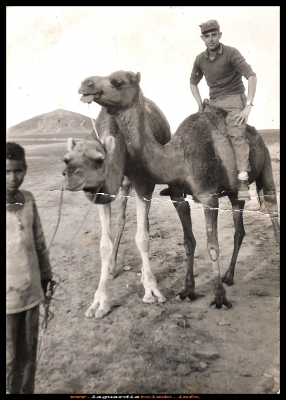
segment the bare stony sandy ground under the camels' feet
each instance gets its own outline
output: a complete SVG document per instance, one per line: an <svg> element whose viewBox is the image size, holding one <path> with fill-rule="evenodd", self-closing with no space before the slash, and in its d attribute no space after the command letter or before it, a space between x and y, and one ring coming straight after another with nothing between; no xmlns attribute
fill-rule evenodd
<svg viewBox="0 0 286 400"><path fill-rule="evenodd" d="M267 139L267 138L266 138ZM267 143L267 140L266 140ZM278 192L279 143L268 143ZM37 200L47 243L58 218L65 144L27 145L23 188ZM227 288L230 310L209 307L210 260L204 214L190 202L195 252L195 302L175 299L185 277L183 233L176 211L156 186L150 211L151 263L164 304L143 304L135 200L129 199L118 266L109 282L111 312L85 318L99 281L101 227L96 206L67 249L90 207L83 193L65 192L59 229L50 250L55 280L53 319L43 335L36 393L204 394L277 393L279 381L279 248L268 215L259 212L255 184L244 212L246 236L235 285ZM135 196L135 193L133 193ZM191 200L191 198L190 198ZM116 215L117 202L113 203ZM230 202L220 200L218 232L222 273L233 250ZM43 312L43 310L42 310ZM41 320L42 321L42 320ZM40 335L42 334L42 330Z"/></svg>

